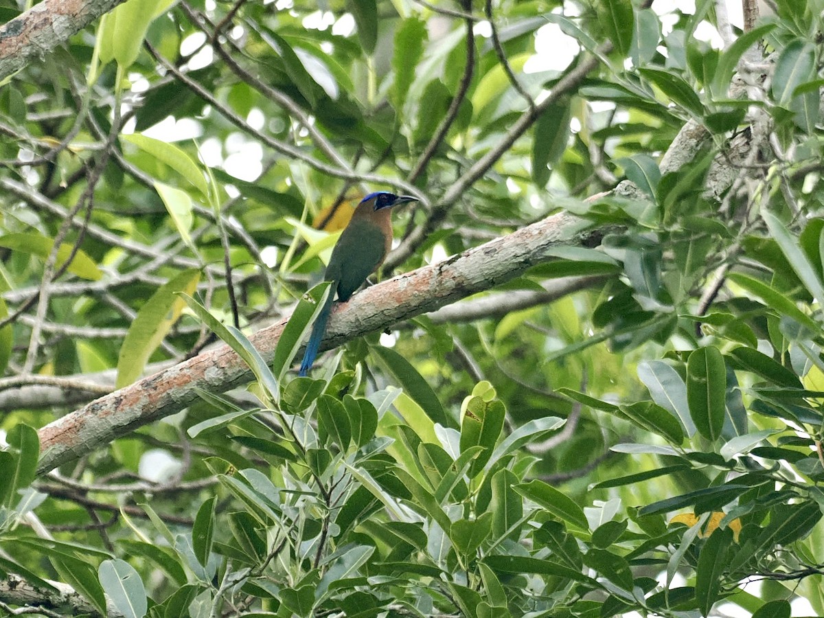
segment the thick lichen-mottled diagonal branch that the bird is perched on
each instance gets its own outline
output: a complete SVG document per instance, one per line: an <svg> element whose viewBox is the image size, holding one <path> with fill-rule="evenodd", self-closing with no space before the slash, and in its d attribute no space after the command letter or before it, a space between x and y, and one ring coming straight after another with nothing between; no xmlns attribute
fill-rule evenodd
<svg viewBox="0 0 824 618"><path fill-rule="evenodd" d="M438 264L401 274L336 307L321 348L333 348L494 288L551 260L554 247L597 245L603 233L603 229L592 229L590 222L559 213ZM250 337L266 362L273 358L285 324L281 321ZM197 399L198 389L223 392L250 377L236 353L222 345L92 401L40 429L38 474L183 410Z"/></svg>

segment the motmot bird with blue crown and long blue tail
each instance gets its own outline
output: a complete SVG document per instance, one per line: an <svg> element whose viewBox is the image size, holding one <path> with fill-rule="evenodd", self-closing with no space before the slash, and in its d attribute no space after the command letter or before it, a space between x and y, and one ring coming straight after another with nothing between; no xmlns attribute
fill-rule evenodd
<svg viewBox="0 0 824 618"><path fill-rule="evenodd" d="M306 353L303 354L303 362L298 375L307 375L312 363L315 362L326 330L326 322L329 321L329 314L332 311L335 294L340 302L348 301L349 297L366 281L366 278L374 273L386 259L386 254L392 246L391 208L417 201L418 198L410 195L377 191L377 193L368 194L355 208L349 225L341 232L332 250L329 265L326 266L323 279L331 282L329 296L326 297L321 312L317 315L315 324L312 325L311 336Z"/></svg>

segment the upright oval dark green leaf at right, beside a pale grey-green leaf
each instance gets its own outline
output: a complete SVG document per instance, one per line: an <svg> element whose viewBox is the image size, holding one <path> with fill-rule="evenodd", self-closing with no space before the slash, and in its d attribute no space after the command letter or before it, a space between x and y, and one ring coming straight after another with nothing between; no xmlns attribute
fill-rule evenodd
<svg viewBox="0 0 824 618"><path fill-rule="evenodd" d="M727 370L718 348L692 352L686 363L686 399L698 432L712 442L721 436L726 389Z"/></svg>

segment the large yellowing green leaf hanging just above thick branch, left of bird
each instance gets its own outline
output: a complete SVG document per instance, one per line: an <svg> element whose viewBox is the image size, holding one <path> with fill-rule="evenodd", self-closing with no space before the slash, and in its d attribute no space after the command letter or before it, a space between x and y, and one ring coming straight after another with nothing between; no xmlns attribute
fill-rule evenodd
<svg viewBox="0 0 824 618"><path fill-rule="evenodd" d="M120 346L117 361L117 388L132 384L143 374L152 353L180 317L185 302L178 293L193 294L200 280L198 269L184 270L164 283L147 302L129 326Z"/></svg>

